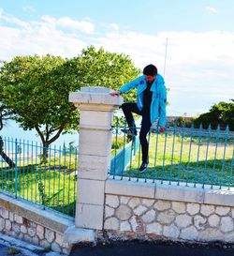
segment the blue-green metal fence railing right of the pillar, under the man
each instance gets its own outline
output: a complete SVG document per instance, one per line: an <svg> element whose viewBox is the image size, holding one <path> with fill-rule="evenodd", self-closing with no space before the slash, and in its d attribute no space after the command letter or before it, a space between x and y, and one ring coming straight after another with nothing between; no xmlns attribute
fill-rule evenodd
<svg viewBox="0 0 234 256"><path fill-rule="evenodd" d="M177 185L185 183L186 186L204 188L218 186L218 188L230 188L234 186L233 163L234 163L234 133L226 130L200 128L166 129L160 133L158 128L151 129L148 136L149 142L149 166L144 173L139 173L141 164L140 147L136 152L135 140L127 141L127 136L121 132L124 126L117 125L113 128L114 143L121 145L115 150L111 162L110 174L116 176L134 178L136 181L145 182L160 181L168 184L173 182ZM139 130L139 128L138 128ZM139 132L138 132L139 134ZM125 161L125 147L131 148ZM122 159L120 159L122 156ZM117 158L117 160L116 160ZM117 163L125 162L123 166Z"/></svg>

